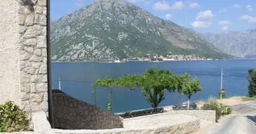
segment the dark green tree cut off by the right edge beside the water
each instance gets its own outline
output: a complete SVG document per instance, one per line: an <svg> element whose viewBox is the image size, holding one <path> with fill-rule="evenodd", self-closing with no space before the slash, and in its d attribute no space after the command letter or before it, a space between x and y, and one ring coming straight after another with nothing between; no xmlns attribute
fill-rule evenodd
<svg viewBox="0 0 256 134"><path fill-rule="evenodd" d="M256 95L256 70L249 69L249 76L247 76L247 80L249 81L249 86L248 86L248 95L250 97Z"/></svg>

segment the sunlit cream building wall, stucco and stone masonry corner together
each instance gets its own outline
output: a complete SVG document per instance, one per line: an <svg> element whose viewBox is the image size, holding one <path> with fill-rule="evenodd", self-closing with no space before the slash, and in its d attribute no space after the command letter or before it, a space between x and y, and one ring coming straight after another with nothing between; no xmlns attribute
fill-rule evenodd
<svg viewBox="0 0 256 134"><path fill-rule="evenodd" d="M47 113L46 0L32 2L32 10L23 0L0 3L0 103Z"/></svg>

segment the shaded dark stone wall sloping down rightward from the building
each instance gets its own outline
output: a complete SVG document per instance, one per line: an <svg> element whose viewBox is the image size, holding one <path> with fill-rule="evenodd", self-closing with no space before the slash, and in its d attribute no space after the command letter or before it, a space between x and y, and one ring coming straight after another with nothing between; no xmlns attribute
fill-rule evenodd
<svg viewBox="0 0 256 134"><path fill-rule="evenodd" d="M113 129L123 127L123 118L84 103L60 90L53 92L54 124L59 129Z"/></svg>

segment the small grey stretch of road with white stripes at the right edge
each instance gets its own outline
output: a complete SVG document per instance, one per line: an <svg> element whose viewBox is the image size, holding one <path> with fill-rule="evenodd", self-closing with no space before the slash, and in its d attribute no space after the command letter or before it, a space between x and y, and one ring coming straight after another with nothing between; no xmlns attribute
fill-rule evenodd
<svg viewBox="0 0 256 134"><path fill-rule="evenodd" d="M238 113L256 113L256 101L253 102L245 102L241 105L234 105L232 106L232 111L236 111Z"/></svg>

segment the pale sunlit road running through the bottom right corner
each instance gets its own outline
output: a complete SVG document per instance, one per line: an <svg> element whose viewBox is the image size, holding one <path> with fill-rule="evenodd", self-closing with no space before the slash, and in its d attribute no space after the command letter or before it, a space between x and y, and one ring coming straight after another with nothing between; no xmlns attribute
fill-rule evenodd
<svg viewBox="0 0 256 134"><path fill-rule="evenodd" d="M241 115L227 115L196 134L256 134L256 101L232 107Z"/></svg>

